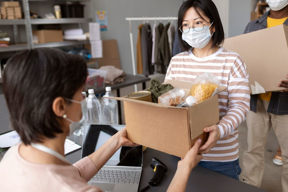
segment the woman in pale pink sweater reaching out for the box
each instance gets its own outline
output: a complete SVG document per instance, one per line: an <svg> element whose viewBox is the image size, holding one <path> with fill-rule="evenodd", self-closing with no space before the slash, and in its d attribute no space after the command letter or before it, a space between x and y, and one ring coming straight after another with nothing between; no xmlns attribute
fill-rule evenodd
<svg viewBox="0 0 288 192"><path fill-rule="evenodd" d="M15 54L3 73L3 91L11 125L22 143L0 162L1 192L101 191L88 182L121 146L136 146L126 129L93 154L71 165L64 156L68 135L83 125L87 76L84 59L59 49L38 48ZM178 162L168 191L184 191L202 155L201 140Z"/></svg>

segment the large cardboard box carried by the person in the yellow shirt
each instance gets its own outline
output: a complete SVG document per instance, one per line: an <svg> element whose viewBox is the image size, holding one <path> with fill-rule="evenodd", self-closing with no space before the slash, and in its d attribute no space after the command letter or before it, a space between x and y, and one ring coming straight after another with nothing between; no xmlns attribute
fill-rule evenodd
<svg viewBox="0 0 288 192"><path fill-rule="evenodd" d="M281 80L287 80L287 25L278 25L227 38L223 47L238 53L244 60L249 73L250 93L287 89L278 87Z"/></svg>

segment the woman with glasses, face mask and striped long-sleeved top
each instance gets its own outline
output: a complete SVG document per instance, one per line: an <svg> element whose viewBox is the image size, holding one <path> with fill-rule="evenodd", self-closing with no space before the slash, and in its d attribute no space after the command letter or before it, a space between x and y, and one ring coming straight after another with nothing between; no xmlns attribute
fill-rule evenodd
<svg viewBox="0 0 288 192"><path fill-rule="evenodd" d="M238 130L250 110L249 80L241 57L221 47L224 30L212 0L188 0L178 12L178 38L182 53L171 59L167 80L193 82L197 75L209 72L228 89L218 94L217 125L204 128L208 141L199 148L198 164L239 180Z"/></svg>

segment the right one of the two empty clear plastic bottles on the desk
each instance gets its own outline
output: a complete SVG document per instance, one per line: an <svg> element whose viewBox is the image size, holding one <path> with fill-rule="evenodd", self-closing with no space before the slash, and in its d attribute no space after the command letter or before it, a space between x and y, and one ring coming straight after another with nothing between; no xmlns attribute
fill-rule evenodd
<svg viewBox="0 0 288 192"><path fill-rule="evenodd" d="M106 87L104 97L114 97L111 87ZM103 124L118 125L118 106L115 99L103 98L102 100Z"/></svg>

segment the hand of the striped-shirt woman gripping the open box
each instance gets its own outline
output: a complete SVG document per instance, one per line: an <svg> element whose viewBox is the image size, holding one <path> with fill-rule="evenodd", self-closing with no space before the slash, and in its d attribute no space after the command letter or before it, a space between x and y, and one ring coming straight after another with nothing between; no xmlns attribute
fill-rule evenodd
<svg viewBox="0 0 288 192"><path fill-rule="evenodd" d="M216 142L220 139L220 130L218 125L212 125L210 127L204 128L204 132L210 132L207 142L199 148L199 152L201 154L206 154L215 147Z"/></svg>

